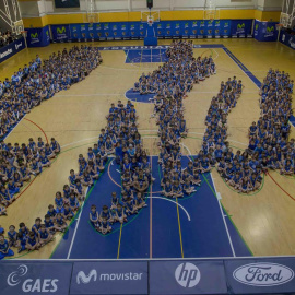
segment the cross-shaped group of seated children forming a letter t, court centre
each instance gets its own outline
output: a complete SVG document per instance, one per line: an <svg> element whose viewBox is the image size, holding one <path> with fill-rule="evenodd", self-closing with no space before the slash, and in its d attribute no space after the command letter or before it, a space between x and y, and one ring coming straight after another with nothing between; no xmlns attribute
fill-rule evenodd
<svg viewBox="0 0 295 295"><path fill-rule="evenodd" d="M194 186L201 185L200 173L209 167L181 167L180 139L187 137L188 129L184 118L182 99L194 83L216 73L212 57L193 57L191 40L174 40L166 50L168 61L158 67L152 74L144 73L134 84L133 91L155 93L154 114L157 116L160 135L158 164L163 178L161 186L167 198L181 198L196 191Z"/></svg>

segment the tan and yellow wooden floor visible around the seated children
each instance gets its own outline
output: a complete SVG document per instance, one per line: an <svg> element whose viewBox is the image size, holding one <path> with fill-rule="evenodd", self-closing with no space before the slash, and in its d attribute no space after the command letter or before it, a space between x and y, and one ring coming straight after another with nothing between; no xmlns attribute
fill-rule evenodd
<svg viewBox="0 0 295 295"><path fill-rule="evenodd" d="M260 81L270 67L288 72L295 79L295 50L276 43L259 43L253 39L194 40L197 44L224 44ZM162 40L160 44L169 44ZM119 46L121 42L96 43L97 46ZM142 45L141 42L123 42L123 45ZM46 48L26 49L0 64L0 79L11 76L14 70L27 63L38 54L47 58L51 52L72 47L73 44L55 44ZM224 52L223 49L194 49L194 55L213 55L217 74L205 82L196 85L185 101L186 119L189 127L189 138L182 143L196 154L201 146L204 132L204 118L211 97L219 91L221 81L236 75L243 80L244 94L236 108L228 116L228 139L237 149L245 149L248 143L247 129L259 118L258 88L240 68ZM32 110L25 118L32 120L49 138L55 137L62 146L62 154L44 172L21 198L8 209L8 216L0 217L4 228L20 222L32 226L34 220L43 217L47 205L54 202L56 191L61 191L71 168L78 169L76 160L80 153L86 153L86 148L96 141L101 128L105 127L111 102L126 101L125 92L132 87L139 75L151 71L157 64L125 63L122 50L102 51L104 62L83 82L61 92ZM150 119L153 106L137 103L140 132L144 139L144 148L150 154L157 154L155 148L155 120ZM27 142L30 137L35 140L44 133L28 120L22 120L8 137L7 142ZM294 134L294 128L292 127ZM187 149L184 149L185 153ZM295 178L286 178L278 173L271 174L273 179L295 199ZM219 175L213 172L213 178L222 196L222 203L250 247L255 256L295 255L295 201L275 182L266 177L262 190L255 196L241 196L228 189ZM58 244L60 236L40 251L27 255L25 258L49 258Z"/></svg>

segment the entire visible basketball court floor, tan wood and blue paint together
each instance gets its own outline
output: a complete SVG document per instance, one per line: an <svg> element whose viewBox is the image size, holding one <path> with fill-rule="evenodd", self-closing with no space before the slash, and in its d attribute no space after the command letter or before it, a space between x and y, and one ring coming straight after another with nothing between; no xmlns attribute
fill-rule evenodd
<svg viewBox="0 0 295 295"><path fill-rule="evenodd" d="M141 23L152 21L157 25L161 13L143 11ZM97 15L90 10L84 17L92 23L103 23L103 16ZM202 19L222 20L222 11L212 4L204 9ZM150 47L141 39L83 43L101 47L103 63L84 81L34 108L5 139L5 142L22 143L31 137L35 140L42 137L45 141L54 137L61 145L61 153L50 168L27 184L9 206L8 216L0 217L0 224L8 228L24 222L31 227L36 217L44 216L55 193L68 182L70 169L78 169L78 155L86 154L87 148L97 142L110 104L119 99L123 104L127 99L134 103L143 148L150 155L152 174L156 178L145 194L148 206L123 225L115 224L107 235L92 227L88 222L91 205L101 208L108 203L113 191L120 194L120 170L110 157L68 231L57 234L55 241L39 251L15 255L11 259L227 258L295 253L294 176L271 172L264 176L258 191L241 194L228 187L213 169L202 175L202 185L190 197L170 200L161 194L163 175L157 165L157 126L151 118L153 95L132 91L143 72L152 72L167 61L165 51L172 39L157 42L157 46ZM228 116L228 141L237 151L247 148L248 128L260 117L259 87L269 68L284 70L295 78L295 51L282 43L255 38L197 38L192 43L196 58L212 56L216 74L196 84L184 101L189 128L188 138L181 140L184 166L201 148L204 119L221 81L235 75L245 85L237 106ZM48 47L24 49L0 64L0 78L2 81L10 78L37 54L45 59L52 52L81 44L54 43ZM292 138L295 135L293 123L291 130Z"/></svg>

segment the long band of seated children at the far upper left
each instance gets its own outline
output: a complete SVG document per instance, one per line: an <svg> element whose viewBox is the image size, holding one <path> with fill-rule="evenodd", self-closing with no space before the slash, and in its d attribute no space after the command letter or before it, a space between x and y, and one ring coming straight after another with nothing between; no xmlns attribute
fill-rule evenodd
<svg viewBox="0 0 295 295"><path fill-rule="evenodd" d="M33 107L85 79L101 62L97 47L74 46L43 61L37 56L14 72L11 80L0 81L0 138L3 139Z"/></svg>

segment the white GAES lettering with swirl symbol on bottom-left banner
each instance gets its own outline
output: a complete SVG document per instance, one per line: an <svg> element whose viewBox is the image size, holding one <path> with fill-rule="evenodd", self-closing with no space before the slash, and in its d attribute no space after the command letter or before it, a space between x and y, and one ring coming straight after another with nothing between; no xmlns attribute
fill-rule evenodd
<svg viewBox="0 0 295 295"><path fill-rule="evenodd" d="M8 285L9 286L16 286L22 282L22 278L27 274L28 268L25 264L21 264L16 271L13 271L8 276ZM36 279L35 281L33 279L26 279L22 284L22 291L23 292L57 292L58 286L57 282L59 280L57 279Z"/></svg>

